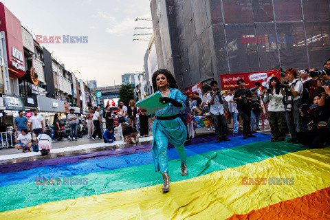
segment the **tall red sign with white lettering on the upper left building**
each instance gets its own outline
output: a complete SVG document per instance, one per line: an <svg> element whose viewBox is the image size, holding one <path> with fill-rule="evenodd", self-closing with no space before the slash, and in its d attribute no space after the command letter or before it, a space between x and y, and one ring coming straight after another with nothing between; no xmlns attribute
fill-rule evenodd
<svg viewBox="0 0 330 220"><path fill-rule="evenodd" d="M9 76L21 78L25 74L21 21L0 2L0 31L5 32Z"/></svg>

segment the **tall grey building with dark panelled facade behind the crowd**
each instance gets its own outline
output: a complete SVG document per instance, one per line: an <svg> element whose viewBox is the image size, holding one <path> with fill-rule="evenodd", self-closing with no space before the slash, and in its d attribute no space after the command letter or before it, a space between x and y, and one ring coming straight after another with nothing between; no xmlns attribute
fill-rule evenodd
<svg viewBox="0 0 330 220"><path fill-rule="evenodd" d="M152 0L159 68L180 89L220 74L294 67L330 58L329 0Z"/></svg>

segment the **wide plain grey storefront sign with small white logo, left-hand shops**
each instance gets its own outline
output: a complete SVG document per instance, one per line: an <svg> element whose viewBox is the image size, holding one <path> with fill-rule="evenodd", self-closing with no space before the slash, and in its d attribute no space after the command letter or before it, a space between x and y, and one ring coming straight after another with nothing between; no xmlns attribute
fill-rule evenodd
<svg viewBox="0 0 330 220"><path fill-rule="evenodd" d="M38 100L38 109L40 111L65 112L64 102L46 96L36 96Z"/></svg>

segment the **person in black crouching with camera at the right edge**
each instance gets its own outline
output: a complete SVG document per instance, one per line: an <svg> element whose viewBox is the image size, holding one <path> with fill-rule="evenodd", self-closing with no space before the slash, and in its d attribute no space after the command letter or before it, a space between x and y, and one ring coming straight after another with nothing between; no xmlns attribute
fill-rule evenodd
<svg viewBox="0 0 330 220"><path fill-rule="evenodd" d="M312 107L309 111L301 111L304 118L309 120L307 131L300 131L297 134L299 142L310 148L322 148L329 142L329 118L330 118L330 94L329 87L321 95L315 96ZM327 94L326 94L327 92Z"/></svg>

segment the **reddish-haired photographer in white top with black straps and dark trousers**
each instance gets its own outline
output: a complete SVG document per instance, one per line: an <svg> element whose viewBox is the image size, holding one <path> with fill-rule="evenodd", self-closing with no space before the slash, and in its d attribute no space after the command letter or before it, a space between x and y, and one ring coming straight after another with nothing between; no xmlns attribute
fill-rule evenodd
<svg viewBox="0 0 330 220"><path fill-rule="evenodd" d="M285 118L292 137L287 142L298 144L296 135L303 131L303 120L298 108L302 104L300 97L303 95L303 83L296 78L297 72L294 68L287 69L285 77L287 81L281 85L285 87Z"/></svg>

